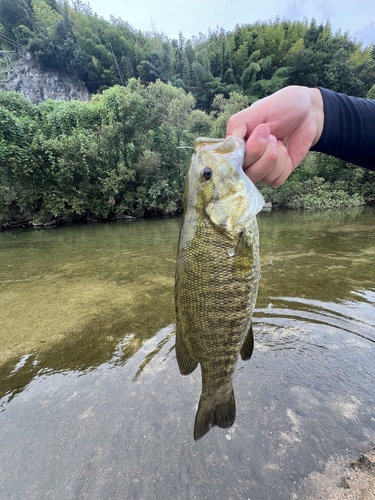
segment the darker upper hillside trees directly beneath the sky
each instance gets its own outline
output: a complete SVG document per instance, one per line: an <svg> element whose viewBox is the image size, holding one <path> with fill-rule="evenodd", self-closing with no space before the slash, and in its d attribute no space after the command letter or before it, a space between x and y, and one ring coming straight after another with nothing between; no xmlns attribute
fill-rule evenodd
<svg viewBox="0 0 375 500"><path fill-rule="evenodd" d="M5 48L13 41L43 68L77 74L92 92L133 77L160 79L192 92L201 109L233 91L253 100L299 84L365 97L375 84L374 47L314 20L276 19L169 40L99 18L80 0L0 0L1 36Z"/></svg>

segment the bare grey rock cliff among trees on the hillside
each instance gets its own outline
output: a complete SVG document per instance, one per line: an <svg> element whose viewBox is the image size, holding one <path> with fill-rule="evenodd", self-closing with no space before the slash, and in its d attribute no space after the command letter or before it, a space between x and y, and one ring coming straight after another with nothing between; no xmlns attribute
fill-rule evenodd
<svg viewBox="0 0 375 500"><path fill-rule="evenodd" d="M60 71L41 71L29 54L14 64L8 74L8 80L0 82L0 90L17 90L33 104L39 104L46 99L90 100L90 92L78 78Z"/></svg>

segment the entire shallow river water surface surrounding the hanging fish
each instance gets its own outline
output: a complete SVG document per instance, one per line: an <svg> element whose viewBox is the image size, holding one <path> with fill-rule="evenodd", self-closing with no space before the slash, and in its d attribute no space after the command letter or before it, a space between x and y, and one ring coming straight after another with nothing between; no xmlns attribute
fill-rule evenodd
<svg viewBox="0 0 375 500"><path fill-rule="evenodd" d="M180 219L0 234L0 498L317 498L316 473L375 443L374 220L260 214L236 423L197 443L200 375L173 348Z"/></svg>

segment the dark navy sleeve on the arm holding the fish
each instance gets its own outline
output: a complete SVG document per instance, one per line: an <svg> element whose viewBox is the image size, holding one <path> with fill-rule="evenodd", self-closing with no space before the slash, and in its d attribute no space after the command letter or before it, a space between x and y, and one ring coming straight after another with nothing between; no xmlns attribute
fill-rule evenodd
<svg viewBox="0 0 375 500"><path fill-rule="evenodd" d="M324 126L311 151L375 170L375 100L349 97L319 87Z"/></svg>

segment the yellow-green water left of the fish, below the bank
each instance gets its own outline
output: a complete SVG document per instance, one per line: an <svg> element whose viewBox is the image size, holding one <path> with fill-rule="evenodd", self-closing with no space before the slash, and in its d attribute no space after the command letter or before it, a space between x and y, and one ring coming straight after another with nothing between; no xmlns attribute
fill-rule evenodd
<svg viewBox="0 0 375 500"><path fill-rule="evenodd" d="M125 361L172 323L178 229L171 219L0 235L0 396L41 369L99 366L124 338Z"/></svg>

